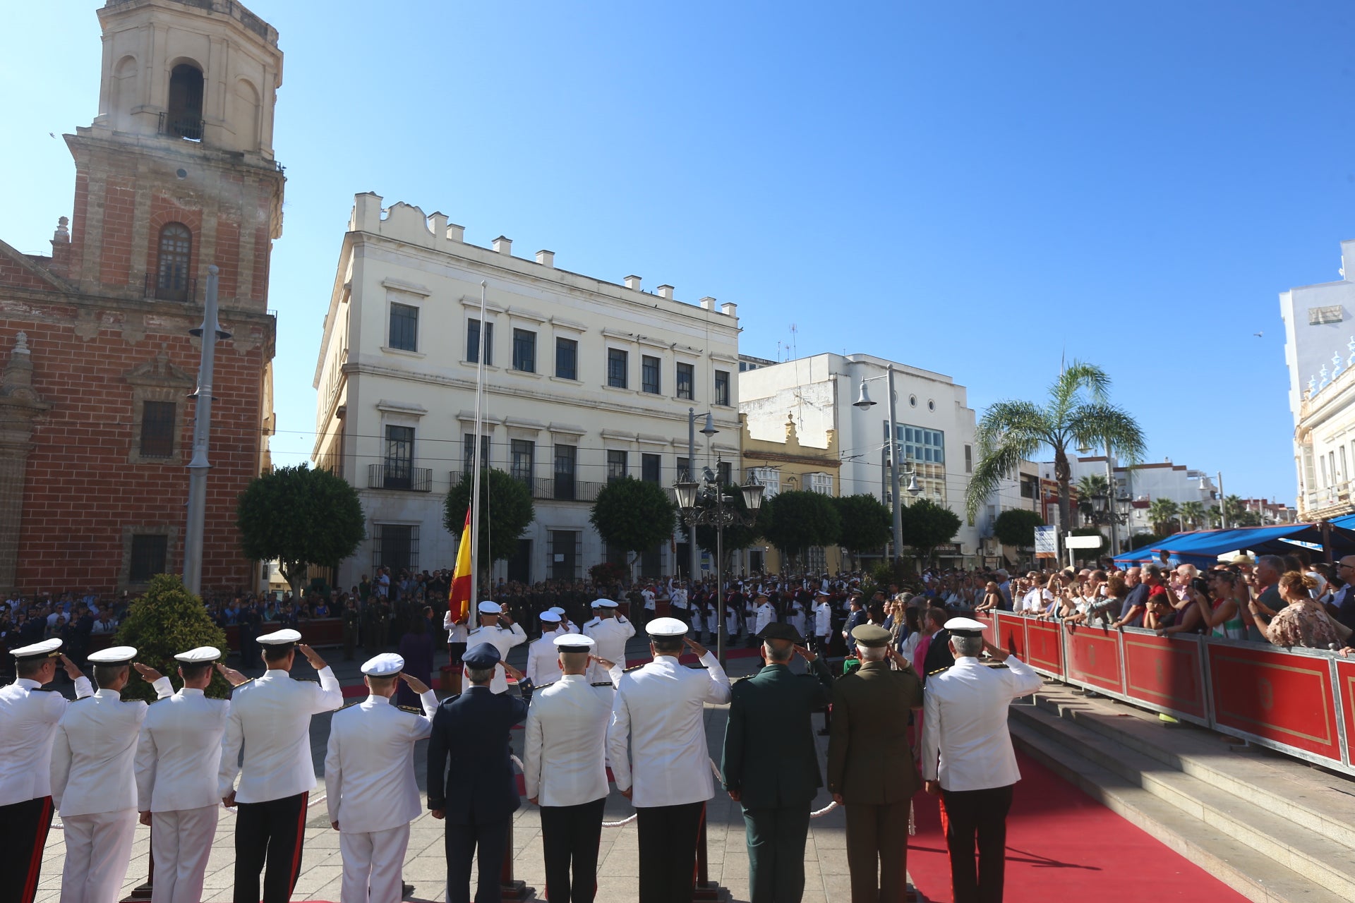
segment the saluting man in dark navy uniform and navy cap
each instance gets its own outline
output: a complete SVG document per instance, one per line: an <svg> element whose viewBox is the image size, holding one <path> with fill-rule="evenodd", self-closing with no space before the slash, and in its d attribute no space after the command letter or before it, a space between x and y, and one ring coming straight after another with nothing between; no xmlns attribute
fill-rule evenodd
<svg viewBox="0 0 1355 903"><path fill-rule="evenodd" d="M500 665L492 643L472 646L462 662L470 689L443 700L432 719L428 808L447 820L447 903L470 903L470 861L477 853L476 903L499 903L499 868L512 814L522 804L508 731L527 718L527 704L491 689Z"/></svg>

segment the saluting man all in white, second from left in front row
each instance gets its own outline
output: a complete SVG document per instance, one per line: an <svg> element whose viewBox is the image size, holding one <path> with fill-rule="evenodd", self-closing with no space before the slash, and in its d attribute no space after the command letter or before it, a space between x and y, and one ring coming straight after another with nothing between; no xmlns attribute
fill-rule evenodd
<svg viewBox="0 0 1355 903"><path fill-rule="evenodd" d="M114 646L89 654L99 689L66 709L51 746L51 799L61 812L66 861L61 903L117 903L137 830L137 736L149 708L122 699L137 650ZM137 665L156 696L173 692L168 677Z"/></svg>

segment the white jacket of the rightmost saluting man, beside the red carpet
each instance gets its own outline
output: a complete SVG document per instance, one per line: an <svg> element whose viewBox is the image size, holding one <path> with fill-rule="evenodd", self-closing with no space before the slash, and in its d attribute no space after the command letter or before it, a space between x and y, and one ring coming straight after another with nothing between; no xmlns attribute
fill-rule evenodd
<svg viewBox="0 0 1355 903"><path fill-rule="evenodd" d="M966 655L927 678L923 693L923 780L942 789L982 791L1020 780L1007 708L1041 688L1041 677L1015 655L988 667Z"/></svg>

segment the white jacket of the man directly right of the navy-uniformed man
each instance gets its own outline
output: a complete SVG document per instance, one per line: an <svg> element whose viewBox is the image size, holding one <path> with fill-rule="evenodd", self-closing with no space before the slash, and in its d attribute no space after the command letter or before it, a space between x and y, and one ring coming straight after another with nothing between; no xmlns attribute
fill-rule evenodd
<svg viewBox="0 0 1355 903"><path fill-rule="evenodd" d="M607 659L611 661L611 659ZM612 682L621 666L611 669ZM565 674L533 695L523 747L523 784L538 806L580 806L607 796L607 723L615 693Z"/></svg>

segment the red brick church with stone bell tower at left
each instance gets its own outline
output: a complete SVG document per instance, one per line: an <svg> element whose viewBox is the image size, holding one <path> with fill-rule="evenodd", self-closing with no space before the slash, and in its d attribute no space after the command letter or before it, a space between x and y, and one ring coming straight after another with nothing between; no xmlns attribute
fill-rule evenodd
<svg viewBox="0 0 1355 903"><path fill-rule="evenodd" d="M268 467L282 234L278 32L233 0L107 0L99 115L65 135L51 255L0 242L0 592L182 573L207 267L220 267L203 592L252 588L234 500Z"/></svg>

